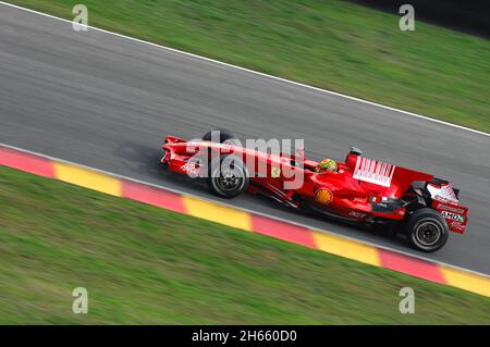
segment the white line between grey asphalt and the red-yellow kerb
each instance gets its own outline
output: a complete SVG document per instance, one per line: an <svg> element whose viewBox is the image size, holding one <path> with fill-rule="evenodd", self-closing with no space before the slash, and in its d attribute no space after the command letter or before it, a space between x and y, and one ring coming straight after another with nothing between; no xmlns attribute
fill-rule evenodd
<svg viewBox="0 0 490 347"><path fill-rule="evenodd" d="M93 168L93 166L75 163L73 161L69 161L69 160L64 160L64 159L60 159L60 158L56 158L56 157L38 153L38 152L32 151L32 150L27 150L27 149L24 149L24 148L19 148L19 147L7 145L7 144L2 144L2 142L0 142L0 147L10 148L10 149L13 149L13 150L16 150L16 151L21 151L21 152L24 152L24 153L29 153L29 154L33 154L33 156L46 158L46 159L49 159L49 160L52 160L52 161L57 161L57 162L61 162L61 163L65 163L65 164L70 164L70 165L79 166L79 168L91 170L91 171L95 171L95 172L98 172L98 173L101 173L101 174L105 174L105 175L108 175L108 176L118 177L118 178L121 178L121 179L126 179L126 181L131 181L131 182L134 182L134 183L139 183L139 184L143 184L143 185L146 185L146 186L150 186L150 187L154 187L154 188L163 189L163 190L172 191L172 193L175 193L175 194L179 194L179 195L183 195L183 196L187 196L187 197L205 200L205 201L212 202L212 203L220 205L220 206L224 206L224 207L228 207L228 208L231 208L231 209L234 209L234 210L241 210L241 211L244 211L244 212L261 215L261 216L265 216L265 218L268 218L268 219L271 219L271 220L275 220L275 221L280 221L280 222L283 222L283 223L294 224L294 225L297 225L297 226L301 226L301 227L305 227L305 228L310 230L310 231L317 231L317 232L321 232L321 233L324 233L324 234L340 236L340 237L350 239L352 241L369 245L369 246L372 246L372 247L376 247L376 248L381 248L381 249L393 251L393 252L396 252L396 253L401 253L401 255L404 255L404 256L407 256L407 257L417 258L417 259L425 260L427 262L431 262L431 263L434 263L434 264L440 264L440 265L444 265L444 267L448 267L448 268L462 270L462 271L465 271L465 272L468 272L468 273L473 273L475 275L479 275L479 276L483 276L483 277L490 278L490 274L486 274L486 273L482 273L482 272L474 271L474 270L470 270L470 269L466 269L466 268L462 268L462 267L457 267L457 265L453 265L453 264L449 264L449 263L443 262L443 261L425 258L425 257L421 257L421 256L418 256L418 255L413 255L413 253L409 253L409 252L406 252L406 251L403 251L403 250L400 250L400 249L391 248L391 247L388 247L388 246L381 246L381 245L378 245L378 244L375 244L375 243L371 243L371 241L368 241L368 240L357 239L355 237L347 236L347 235L342 235L342 234L339 234L339 233L335 233L335 232L332 232L332 231L327 231L327 230L323 230L323 228L314 227L311 225L297 223L295 221L282 219L280 216L275 216L275 215L272 215L272 214L267 214L267 213L254 211L254 210L250 210L250 209L237 207L237 206L234 206L234 205L231 205L231 203L228 203L228 202L213 200L211 198L199 196L199 195L196 195L196 194L186 193L186 191L182 191L182 190L170 188L170 187L166 187L166 186L160 186L160 185L157 185L157 184L154 184L154 183L149 183L149 182L145 182L145 181L142 181L142 179L132 178L132 177L120 175L120 174L115 174L115 173L112 173L112 172L109 172L109 171L105 171L105 170L96 169L96 168ZM56 177L53 179L59 181ZM124 197L122 197L122 198L124 198ZM130 199L130 200L132 200L132 199ZM137 201L137 200L135 200L135 201ZM340 257L342 257L342 256L340 256ZM344 257L342 257L342 258L344 258Z"/></svg>

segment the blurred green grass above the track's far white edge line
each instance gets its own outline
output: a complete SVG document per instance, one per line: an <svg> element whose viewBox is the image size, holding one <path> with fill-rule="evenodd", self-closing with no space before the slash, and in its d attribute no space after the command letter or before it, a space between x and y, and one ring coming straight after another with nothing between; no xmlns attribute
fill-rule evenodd
<svg viewBox="0 0 490 347"><path fill-rule="evenodd" d="M78 0L9 2L73 18ZM490 42L345 1L85 0L89 24L490 132ZM368 121L368 120L366 120Z"/></svg>

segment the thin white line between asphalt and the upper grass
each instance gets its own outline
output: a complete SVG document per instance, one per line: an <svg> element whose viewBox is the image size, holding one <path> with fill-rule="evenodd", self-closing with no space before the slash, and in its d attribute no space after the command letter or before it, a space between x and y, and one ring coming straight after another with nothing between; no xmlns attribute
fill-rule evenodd
<svg viewBox="0 0 490 347"><path fill-rule="evenodd" d="M8 2L4 2L4 1L0 1L0 4L8 5L8 7L11 7L11 8L17 9L17 10L35 13L35 14L38 14L38 15L44 15L46 17L50 17L50 18L53 18L53 20L66 22L66 23L70 23L70 24L73 23L72 21L69 21L69 20L60 18L60 17L57 17L54 15L50 15L50 14L46 14L46 13L42 13L42 12L34 11L34 10L30 10L30 9L17 7L15 4L8 3ZM125 36L125 35L121 35L121 34L118 34L118 33L105 30L105 29L101 29L101 28L98 28L98 27L95 27L95 26L87 25L87 27L90 28L90 29L94 29L96 32L100 32L100 33L118 36L118 37L121 37L121 38L124 38L124 39L128 39L128 40L136 41L136 42L139 42L139 44L149 45L149 46L152 46L152 47L157 47L157 48L160 48L160 49L169 50L169 51L176 52L176 53L180 53L180 54L184 54L184 55L187 55L187 57L192 57L192 58L195 58L195 59L205 60L205 61L212 62L212 63L216 63L216 64L220 64L220 65L223 65L223 66L237 69L237 70L245 71L247 73L259 75L259 76L262 76L262 77L272 78L272 79L275 79L275 80L280 80L280 82L283 82L283 83L292 84L292 85L295 85L295 86L299 86L299 87L304 87L304 88L308 88L308 89L313 89L313 90L317 90L317 91L321 91L321 92L327 92L327 94L334 95L334 96L338 96L338 97L342 97L342 98L345 98L345 99L350 99L350 100L353 100L353 101L363 102L363 103L367 103L367 104L370 104L370 106L376 106L376 107L379 107L379 108L382 108L382 109L385 109L385 110L404 113L404 114L407 114L407 115L416 116L418 119L422 119L422 120L434 122L434 123L439 123L439 124L444 124L444 125L448 125L448 126L456 127L456 128L464 129L464 131L467 131L467 132L471 132L471 133L475 133L475 134L479 134L479 135L483 135L483 136L490 136L489 133L480 132L480 131L473 129L473 128L469 128L469 127L466 127L466 126L462 126L462 125L457 125L457 124L453 124L453 123L436 120L436 119L432 119L432 117L429 117L429 116L426 116L426 115L420 115L420 114L417 114L417 113L413 113L413 112L395 109L395 108L392 108L392 107L389 107L389 106L384 106L384 104L376 103L376 102L372 102L372 101L368 101L368 100L351 97L351 96L347 96L347 95L344 95L344 94L340 94L340 92L335 92L335 91L331 91L331 90L327 90L327 89L321 89L321 88L309 86L309 85L306 85L306 84L303 84L303 83L298 83L298 82L294 82L294 80L290 80L290 79L285 79L285 78L281 78L281 77L277 77L277 76L272 76L272 75L268 75L268 74L265 74L265 73L261 73L261 72L258 72L258 71L254 71L254 70L246 69L246 67L229 64L229 63L225 63L225 62L222 62L222 61L219 61L219 60L215 60L215 59L210 59L210 58L206 58L206 57L203 57L203 55L197 55L197 54L193 54L193 53L189 53L189 52L181 51L179 49L174 49L174 48L171 48L171 47L167 47L167 46L157 45L157 44L152 44L152 42L149 42L149 41L140 40L140 39L137 39L137 38L134 38L134 37L131 37L131 36Z"/></svg>

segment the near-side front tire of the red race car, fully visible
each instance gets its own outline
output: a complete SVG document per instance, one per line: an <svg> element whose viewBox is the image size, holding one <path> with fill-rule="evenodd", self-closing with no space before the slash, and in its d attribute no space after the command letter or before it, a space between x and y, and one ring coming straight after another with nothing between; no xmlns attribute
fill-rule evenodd
<svg viewBox="0 0 490 347"><path fill-rule="evenodd" d="M248 187L249 176L242 159L236 156L221 156L210 163L207 183L209 189L225 199L234 198Z"/></svg>

